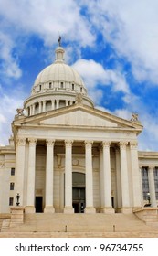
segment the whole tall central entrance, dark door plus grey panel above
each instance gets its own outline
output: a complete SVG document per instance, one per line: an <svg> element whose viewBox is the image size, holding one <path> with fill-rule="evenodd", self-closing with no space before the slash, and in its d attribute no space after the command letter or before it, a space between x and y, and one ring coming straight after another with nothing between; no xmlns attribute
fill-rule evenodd
<svg viewBox="0 0 158 256"><path fill-rule="evenodd" d="M74 212L83 213L86 207L85 175L81 173L73 173L72 185L72 206Z"/></svg>

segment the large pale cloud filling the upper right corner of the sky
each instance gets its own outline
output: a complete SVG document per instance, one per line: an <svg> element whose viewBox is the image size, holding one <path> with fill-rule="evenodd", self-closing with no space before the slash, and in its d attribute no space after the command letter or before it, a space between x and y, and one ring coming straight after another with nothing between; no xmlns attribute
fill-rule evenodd
<svg viewBox="0 0 158 256"><path fill-rule="evenodd" d="M158 1L88 1L90 22L117 54L132 63L137 80L158 84Z"/></svg>

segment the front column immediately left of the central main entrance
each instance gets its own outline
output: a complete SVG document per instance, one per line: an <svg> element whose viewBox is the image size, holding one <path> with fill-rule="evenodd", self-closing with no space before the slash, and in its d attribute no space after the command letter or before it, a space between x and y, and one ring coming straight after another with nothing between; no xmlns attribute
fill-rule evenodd
<svg viewBox="0 0 158 256"><path fill-rule="evenodd" d="M72 208L72 143L73 141L66 140L65 154L65 208L64 213L73 213Z"/></svg>

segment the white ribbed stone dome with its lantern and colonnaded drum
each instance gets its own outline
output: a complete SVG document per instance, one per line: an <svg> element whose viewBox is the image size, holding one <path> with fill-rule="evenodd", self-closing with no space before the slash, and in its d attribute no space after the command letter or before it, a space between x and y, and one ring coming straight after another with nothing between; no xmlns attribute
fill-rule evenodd
<svg viewBox="0 0 158 256"><path fill-rule="evenodd" d="M59 46L55 62L37 75L24 109L28 116L52 111L75 104L78 96L83 104L93 107L83 80L75 69L64 63L64 49Z"/></svg>

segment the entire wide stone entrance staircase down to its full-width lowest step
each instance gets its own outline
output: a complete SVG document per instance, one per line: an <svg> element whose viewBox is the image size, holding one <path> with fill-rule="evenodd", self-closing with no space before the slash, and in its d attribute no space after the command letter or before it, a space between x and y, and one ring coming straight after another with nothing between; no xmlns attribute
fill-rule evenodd
<svg viewBox="0 0 158 256"><path fill-rule="evenodd" d="M24 224L3 229L0 237L156 237L158 226L148 226L134 214L25 214Z"/></svg>

